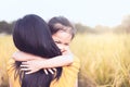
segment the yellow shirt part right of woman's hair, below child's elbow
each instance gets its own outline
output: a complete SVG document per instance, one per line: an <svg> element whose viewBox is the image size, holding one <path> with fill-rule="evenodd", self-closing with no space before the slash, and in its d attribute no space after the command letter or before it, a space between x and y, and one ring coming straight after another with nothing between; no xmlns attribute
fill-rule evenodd
<svg viewBox="0 0 130 87"><path fill-rule="evenodd" d="M56 82L52 82L51 87L75 87L78 78L78 72L80 67L80 61L78 58L74 58L74 63L69 66L64 66L62 76Z"/></svg>

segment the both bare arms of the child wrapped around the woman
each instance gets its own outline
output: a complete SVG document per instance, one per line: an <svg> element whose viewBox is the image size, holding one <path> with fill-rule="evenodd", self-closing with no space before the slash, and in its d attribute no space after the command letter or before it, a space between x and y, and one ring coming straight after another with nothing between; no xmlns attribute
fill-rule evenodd
<svg viewBox="0 0 130 87"><path fill-rule="evenodd" d="M52 70L54 69L52 67L69 65L74 61L73 54L69 50L68 52L66 52L66 54L57 55L52 59L44 59L38 55L32 55L29 53L18 51L13 54L13 59L16 61L26 61L22 63L21 67L23 71L29 71L27 74L37 72L40 69L47 69L53 74ZM47 70L44 70L44 72Z"/></svg>

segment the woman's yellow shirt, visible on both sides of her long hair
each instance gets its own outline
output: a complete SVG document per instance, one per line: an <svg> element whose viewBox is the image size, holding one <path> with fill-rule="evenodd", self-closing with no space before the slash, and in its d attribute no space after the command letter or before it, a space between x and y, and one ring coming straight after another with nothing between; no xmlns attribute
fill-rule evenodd
<svg viewBox="0 0 130 87"><path fill-rule="evenodd" d="M14 79L15 69L13 66L14 60L10 59L8 62L8 75L12 87L21 87L20 78ZM75 87L78 78L78 72L80 67L80 61L78 58L74 58L74 63L68 66L63 66L62 76L58 80L53 80L50 87Z"/></svg>

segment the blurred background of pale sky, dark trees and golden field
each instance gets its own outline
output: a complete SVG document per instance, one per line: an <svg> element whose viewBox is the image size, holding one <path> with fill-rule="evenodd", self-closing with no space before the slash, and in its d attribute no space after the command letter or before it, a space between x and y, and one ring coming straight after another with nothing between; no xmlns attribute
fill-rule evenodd
<svg viewBox="0 0 130 87"><path fill-rule="evenodd" d="M79 87L130 87L129 0L0 0L0 87L9 87L6 62L16 50L14 22L38 14L63 15L77 35L72 51L81 61Z"/></svg>

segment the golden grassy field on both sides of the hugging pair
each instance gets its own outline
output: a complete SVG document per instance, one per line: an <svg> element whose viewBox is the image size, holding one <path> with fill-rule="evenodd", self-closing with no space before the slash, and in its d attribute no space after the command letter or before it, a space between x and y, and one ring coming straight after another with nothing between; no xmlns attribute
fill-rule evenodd
<svg viewBox="0 0 130 87"><path fill-rule="evenodd" d="M77 35L70 49L80 59L79 87L130 87L130 35ZM0 87L8 87L6 62L15 51L0 36Z"/></svg>

